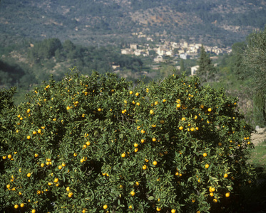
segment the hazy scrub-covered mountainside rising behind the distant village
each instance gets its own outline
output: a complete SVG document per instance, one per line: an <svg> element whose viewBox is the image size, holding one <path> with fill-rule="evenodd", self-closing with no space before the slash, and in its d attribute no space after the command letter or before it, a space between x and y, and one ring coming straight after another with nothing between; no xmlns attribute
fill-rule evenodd
<svg viewBox="0 0 266 213"><path fill-rule="evenodd" d="M118 44L181 38L232 45L266 23L266 0L2 0L0 42ZM133 33L143 33L137 38Z"/></svg>

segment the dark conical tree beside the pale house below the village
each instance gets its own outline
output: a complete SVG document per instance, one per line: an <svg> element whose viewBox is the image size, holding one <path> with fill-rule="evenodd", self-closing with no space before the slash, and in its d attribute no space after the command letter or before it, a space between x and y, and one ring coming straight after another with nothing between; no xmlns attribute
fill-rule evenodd
<svg viewBox="0 0 266 213"><path fill-rule="evenodd" d="M200 59L198 60L198 65L199 68L196 74L203 82L209 82L215 75L215 67L210 59L210 55L206 53L203 45L200 48Z"/></svg>

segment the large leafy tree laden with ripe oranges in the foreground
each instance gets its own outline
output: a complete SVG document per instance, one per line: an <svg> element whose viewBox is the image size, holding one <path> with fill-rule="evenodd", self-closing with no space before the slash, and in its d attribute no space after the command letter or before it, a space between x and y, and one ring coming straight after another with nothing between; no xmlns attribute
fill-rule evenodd
<svg viewBox="0 0 266 213"><path fill-rule="evenodd" d="M73 72L29 93L13 123L6 212L225 212L254 181L237 100L197 77L133 86Z"/></svg>

